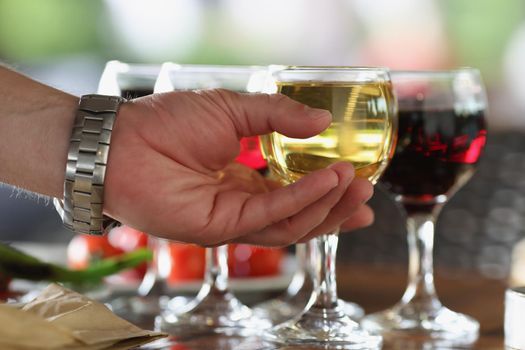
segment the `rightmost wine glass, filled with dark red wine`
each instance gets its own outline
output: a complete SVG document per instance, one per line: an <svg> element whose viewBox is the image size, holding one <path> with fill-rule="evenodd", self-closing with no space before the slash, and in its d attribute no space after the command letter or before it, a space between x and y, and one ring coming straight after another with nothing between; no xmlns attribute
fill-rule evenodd
<svg viewBox="0 0 525 350"><path fill-rule="evenodd" d="M407 215L408 287L393 307L362 326L385 338L471 343L479 323L439 301L432 248L436 218L472 176L485 145L486 97L475 69L392 72L399 102L399 140L383 184Z"/></svg>

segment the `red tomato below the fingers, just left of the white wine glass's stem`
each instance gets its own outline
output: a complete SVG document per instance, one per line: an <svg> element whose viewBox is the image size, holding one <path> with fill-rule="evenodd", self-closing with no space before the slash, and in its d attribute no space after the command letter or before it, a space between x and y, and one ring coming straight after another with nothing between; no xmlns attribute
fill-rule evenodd
<svg viewBox="0 0 525 350"><path fill-rule="evenodd" d="M280 273L283 249L255 247L247 244L228 246L231 277L260 277Z"/></svg>

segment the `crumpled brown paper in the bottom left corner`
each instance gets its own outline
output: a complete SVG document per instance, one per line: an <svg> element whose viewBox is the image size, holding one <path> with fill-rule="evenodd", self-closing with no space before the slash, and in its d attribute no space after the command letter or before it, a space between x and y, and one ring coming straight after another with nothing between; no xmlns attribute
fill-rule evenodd
<svg viewBox="0 0 525 350"><path fill-rule="evenodd" d="M57 284L19 309L0 305L0 349L129 349L164 336Z"/></svg>

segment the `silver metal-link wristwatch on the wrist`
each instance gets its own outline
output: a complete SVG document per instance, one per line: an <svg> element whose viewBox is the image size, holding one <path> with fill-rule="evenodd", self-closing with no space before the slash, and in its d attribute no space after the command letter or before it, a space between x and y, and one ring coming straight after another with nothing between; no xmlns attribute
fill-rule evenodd
<svg viewBox="0 0 525 350"><path fill-rule="evenodd" d="M64 226L77 233L102 235L118 224L102 214L104 177L119 96L80 98L67 154L64 200L54 199Z"/></svg>

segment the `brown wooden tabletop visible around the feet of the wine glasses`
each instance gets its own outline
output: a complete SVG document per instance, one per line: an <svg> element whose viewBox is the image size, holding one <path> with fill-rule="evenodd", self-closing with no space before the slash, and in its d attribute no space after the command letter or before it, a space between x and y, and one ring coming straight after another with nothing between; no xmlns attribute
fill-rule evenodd
<svg viewBox="0 0 525 350"><path fill-rule="evenodd" d="M448 276L448 277L447 277ZM450 277L453 276L453 277ZM406 286L405 266L338 266L339 296L363 306L367 313L379 311L397 302ZM385 339L383 349L483 349L503 350L503 281L483 278L461 271L436 270L435 282L444 305L476 318L481 325L479 340L470 346L425 344L415 338ZM201 336L190 339L165 339L141 349L309 349L311 347L277 346L256 337ZM312 348L319 349L319 348ZM326 348L325 348L326 349Z"/></svg>

